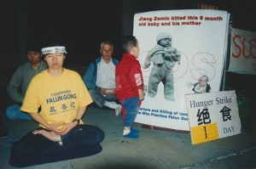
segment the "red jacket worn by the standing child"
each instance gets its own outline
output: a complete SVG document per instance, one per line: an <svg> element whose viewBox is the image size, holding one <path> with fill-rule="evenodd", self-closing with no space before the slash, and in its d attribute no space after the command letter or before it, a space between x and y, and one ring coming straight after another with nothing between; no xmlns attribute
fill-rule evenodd
<svg viewBox="0 0 256 169"><path fill-rule="evenodd" d="M132 54L123 54L123 59L116 66L115 87L118 99L138 97L138 89L143 90L141 65Z"/></svg>

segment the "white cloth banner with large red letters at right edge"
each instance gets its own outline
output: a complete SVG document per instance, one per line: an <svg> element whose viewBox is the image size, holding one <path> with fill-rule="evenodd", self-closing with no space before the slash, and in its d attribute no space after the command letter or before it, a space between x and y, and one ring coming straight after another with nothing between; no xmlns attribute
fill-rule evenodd
<svg viewBox="0 0 256 169"><path fill-rule="evenodd" d="M231 31L229 71L256 75L256 31Z"/></svg>

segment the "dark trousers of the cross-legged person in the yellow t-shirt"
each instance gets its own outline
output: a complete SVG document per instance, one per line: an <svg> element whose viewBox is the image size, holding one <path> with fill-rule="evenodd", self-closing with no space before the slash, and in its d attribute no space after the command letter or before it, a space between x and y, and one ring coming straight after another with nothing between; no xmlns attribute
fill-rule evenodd
<svg viewBox="0 0 256 169"><path fill-rule="evenodd" d="M44 128L38 129L46 130ZM72 159L73 155L62 155L63 159L56 155L70 152L73 149L79 151L84 147L90 149L90 146L94 147L95 144L101 143L104 136L104 132L99 127L79 125L66 135L61 136L62 145L60 145L58 142L51 141L41 134L28 132L13 144L9 164L11 166L32 166L35 165L36 161L42 161L42 158L44 158L44 163L56 161L55 159L58 161ZM81 153L83 154L83 152ZM89 155L95 154L95 152L87 153ZM47 156L51 158L49 159Z"/></svg>

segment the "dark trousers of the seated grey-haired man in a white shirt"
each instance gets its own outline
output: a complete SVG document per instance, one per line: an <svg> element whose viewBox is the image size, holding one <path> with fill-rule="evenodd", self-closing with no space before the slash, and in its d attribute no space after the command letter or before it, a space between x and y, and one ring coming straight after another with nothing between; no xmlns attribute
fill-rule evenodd
<svg viewBox="0 0 256 169"><path fill-rule="evenodd" d="M106 95L104 96L100 91L94 90L94 89L88 89L88 92L90 93L91 99L99 106L102 107L105 104L105 101L115 101L116 95Z"/></svg>

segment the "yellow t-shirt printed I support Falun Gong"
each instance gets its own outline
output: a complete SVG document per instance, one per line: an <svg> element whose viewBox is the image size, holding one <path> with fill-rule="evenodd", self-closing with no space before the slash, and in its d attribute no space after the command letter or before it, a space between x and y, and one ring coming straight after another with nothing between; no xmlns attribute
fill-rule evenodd
<svg viewBox="0 0 256 169"><path fill-rule="evenodd" d="M90 94L77 72L64 69L61 76L54 77L44 70L32 78L20 110L37 113L41 105L39 115L49 124L56 124L71 122L79 107L90 103ZM39 126L44 127L42 124Z"/></svg>

